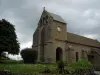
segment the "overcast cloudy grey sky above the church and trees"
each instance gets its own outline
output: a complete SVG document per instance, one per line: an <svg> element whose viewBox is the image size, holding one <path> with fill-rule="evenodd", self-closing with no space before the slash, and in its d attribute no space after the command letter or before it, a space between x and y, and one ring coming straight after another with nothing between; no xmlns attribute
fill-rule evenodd
<svg viewBox="0 0 100 75"><path fill-rule="evenodd" d="M100 0L0 0L0 19L15 25L21 49L31 47L43 7L60 15L67 31L100 41Z"/></svg>

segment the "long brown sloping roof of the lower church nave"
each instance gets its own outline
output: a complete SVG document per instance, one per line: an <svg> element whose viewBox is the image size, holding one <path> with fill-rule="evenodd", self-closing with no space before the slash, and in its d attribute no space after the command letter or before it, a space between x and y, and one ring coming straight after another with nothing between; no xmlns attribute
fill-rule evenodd
<svg viewBox="0 0 100 75"><path fill-rule="evenodd" d="M77 34L73 34L67 32L67 41L73 43L79 43L83 45L93 46L93 47L100 47L100 42L94 39L90 39L84 36L80 36Z"/></svg>

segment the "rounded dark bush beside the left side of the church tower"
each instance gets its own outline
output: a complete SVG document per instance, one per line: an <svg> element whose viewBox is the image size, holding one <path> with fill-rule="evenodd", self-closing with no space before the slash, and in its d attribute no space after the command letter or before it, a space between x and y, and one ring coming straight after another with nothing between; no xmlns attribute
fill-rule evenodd
<svg viewBox="0 0 100 75"><path fill-rule="evenodd" d="M37 51L32 50L31 48L21 50L20 54L24 60L24 63L35 63L37 60Z"/></svg>

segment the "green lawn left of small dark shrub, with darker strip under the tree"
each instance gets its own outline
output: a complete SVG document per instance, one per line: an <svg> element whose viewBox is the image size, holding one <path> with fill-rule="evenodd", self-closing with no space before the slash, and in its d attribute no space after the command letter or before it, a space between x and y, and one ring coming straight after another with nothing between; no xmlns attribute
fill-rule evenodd
<svg viewBox="0 0 100 75"><path fill-rule="evenodd" d="M2 60L2 62L3 63L0 64L0 70L8 70L11 72L39 73L46 67L50 70L57 69L57 64L24 64L22 60Z"/></svg>

